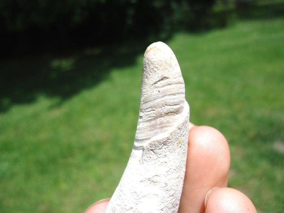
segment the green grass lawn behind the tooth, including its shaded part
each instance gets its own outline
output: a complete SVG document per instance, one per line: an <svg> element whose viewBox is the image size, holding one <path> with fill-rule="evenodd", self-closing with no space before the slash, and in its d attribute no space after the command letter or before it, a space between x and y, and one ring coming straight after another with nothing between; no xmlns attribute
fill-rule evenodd
<svg viewBox="0 0 284 213"><path fill-rule="evenodd" d="M229 187L259 212L283 212L284 19L179 33L167 44L191 122L229 143ZM132 49L0 64L10 75L0 80L0 212L83 212L111 197L138 120L143 52Z"/></svg>

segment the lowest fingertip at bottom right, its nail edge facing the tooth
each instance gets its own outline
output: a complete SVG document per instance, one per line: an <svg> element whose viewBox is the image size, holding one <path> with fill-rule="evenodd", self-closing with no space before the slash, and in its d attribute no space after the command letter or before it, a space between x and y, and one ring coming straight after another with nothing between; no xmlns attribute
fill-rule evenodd
<svg viewBox="0 0 284 213"><path fill-rule="evenodd" d="M232 188L218 188L208 197L205 213L256 213L250 199Z"/></svg>

